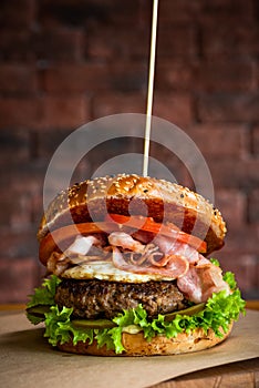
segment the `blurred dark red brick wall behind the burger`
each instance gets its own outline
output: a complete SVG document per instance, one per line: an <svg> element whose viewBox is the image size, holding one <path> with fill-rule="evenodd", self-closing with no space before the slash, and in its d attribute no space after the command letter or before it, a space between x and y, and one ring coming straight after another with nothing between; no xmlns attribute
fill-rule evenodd
<svg viewBox="0 0 259 388"><path fill-rule="evenodd" d="M35 233L58 145L103 115L145 113L152 2L2 0L0 8L0 303L12 303L44 273ZM206 157L229 229L215 256L248 298L259 297L258 42L256 0L160 1L154 114L185 130ZM159 157L168 162L166 152ZM169 166L190 183L178 163ZM96 154L81 173L95 167Z"/></svg>

